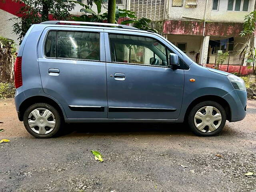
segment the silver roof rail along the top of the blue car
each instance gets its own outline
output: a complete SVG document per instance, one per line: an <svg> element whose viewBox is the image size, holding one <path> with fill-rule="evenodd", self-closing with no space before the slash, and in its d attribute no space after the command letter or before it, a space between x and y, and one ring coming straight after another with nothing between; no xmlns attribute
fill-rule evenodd
<svg viewBox="0 0 256 192"><path fill-rule="evenodd" d="M124 29L136 29L139 30L136 27L128 26L128 25L120 25L120 24L112 24L112 23L96 23L96 22L83 22L83 21L45 21L40 24L84 24L84 25L96 25L96 26L114 26Z"/></svg>

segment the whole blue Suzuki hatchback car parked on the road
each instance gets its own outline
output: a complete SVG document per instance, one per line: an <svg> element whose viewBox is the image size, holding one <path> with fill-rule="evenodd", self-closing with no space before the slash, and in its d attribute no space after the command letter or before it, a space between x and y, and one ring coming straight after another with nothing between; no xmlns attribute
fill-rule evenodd
<svg viewBox="0 0 256 192"><path fill-rule="evenodd" d="M36 138L54 136L64 122L188 122L194 134L213 136L246 116L241 78L131 26L34 24L14 73L18 118Z"/></svg>

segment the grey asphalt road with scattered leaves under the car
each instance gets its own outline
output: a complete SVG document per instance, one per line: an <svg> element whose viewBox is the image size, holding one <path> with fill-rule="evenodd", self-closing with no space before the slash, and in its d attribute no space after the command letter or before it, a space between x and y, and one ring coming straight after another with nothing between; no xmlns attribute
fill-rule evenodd
<svg viewBox="0 0 256 192"><path fill-rule="evenodd" d="M256 172L256 101L247 109L214 137L183 124L111 123L70 124L58 138L36 139L13 99L0 100L0 139L10 140L0 144L0 192L256 192L256 173L244 175Z"/></svg>

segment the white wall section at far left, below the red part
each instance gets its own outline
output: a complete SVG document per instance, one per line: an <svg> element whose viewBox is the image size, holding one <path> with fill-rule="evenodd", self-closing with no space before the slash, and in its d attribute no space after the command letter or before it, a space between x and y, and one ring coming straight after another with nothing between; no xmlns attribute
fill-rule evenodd
<svg viewBox="0 0 256 192"><path fill-rule="evenodd" d="M16 16L0 9L0 36L3 36L5 38L8 39L12 39L16 42L16 44L19 44L18 41L18 35L14 34L12 32L13 27L12 25L14 24L14 22L12 21L8 21L8 19L10 18L17 18Z"/></svg>

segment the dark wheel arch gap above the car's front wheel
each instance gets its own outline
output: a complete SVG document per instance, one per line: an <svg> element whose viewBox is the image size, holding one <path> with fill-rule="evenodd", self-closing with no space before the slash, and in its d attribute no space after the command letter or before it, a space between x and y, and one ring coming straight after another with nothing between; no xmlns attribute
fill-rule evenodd
<svg viewBox="0 0 256 192"><path fill-rule="evenodd" d="M185 120L188 120L188 114L191 111L191 109L196 106L196 104L200 103L200 102L204 102L204 101L214 101L217 102L218 104L220 104L225 112L226 112L226 116L227 116L227 120L230 121L231 120L231 110L230 110L230 106L228 104L228 102L220 97L220 96L216 96L216 95L205 95L205 96L201 96L196 98L195 100L193 100L190 105L188 106L186 113L185 113Z"/></svg>

